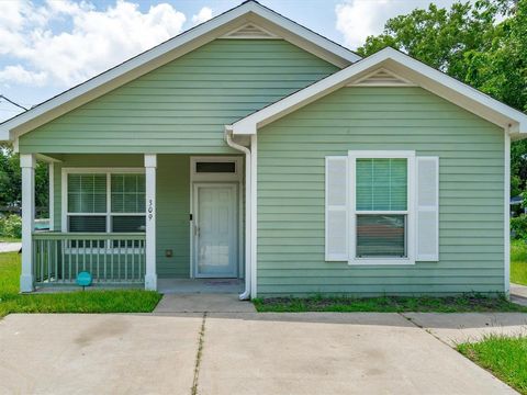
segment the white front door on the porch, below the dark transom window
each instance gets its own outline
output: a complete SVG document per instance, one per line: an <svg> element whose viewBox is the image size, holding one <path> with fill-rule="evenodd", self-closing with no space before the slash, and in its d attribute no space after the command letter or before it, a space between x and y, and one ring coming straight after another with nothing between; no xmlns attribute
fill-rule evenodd
<svg viewBox="0 0 527 395"><path fill-rule="evenodd" d="M237 276L237 185L195 183L193 196L194 275Z"/></svg>

